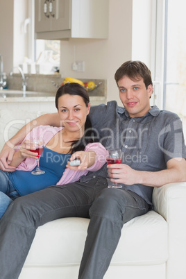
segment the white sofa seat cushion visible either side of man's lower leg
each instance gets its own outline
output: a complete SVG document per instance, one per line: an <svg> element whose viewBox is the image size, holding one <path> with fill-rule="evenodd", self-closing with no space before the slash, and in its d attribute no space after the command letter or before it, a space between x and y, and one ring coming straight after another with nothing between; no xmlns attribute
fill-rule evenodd
<svg viewBox="0 0 186 279"><path fill-rule="evenodd" d="M65 218L37 228L24 267L80 264L88 223L89 219ZM111 264L161 264L167 257L167 222L151 211L124 225Z"/></svg>

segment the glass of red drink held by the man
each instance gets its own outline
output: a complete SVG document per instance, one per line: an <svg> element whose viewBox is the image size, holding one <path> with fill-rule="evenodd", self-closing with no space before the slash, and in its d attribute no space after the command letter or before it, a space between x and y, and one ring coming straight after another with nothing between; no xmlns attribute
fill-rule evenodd
<svg viewBox="0 0 186 279"><path fill-rule="evenodd" d="M121 149L109 149L108 158L106 158L108 164L121 164L122 152ZM119 183L112 183L108 185L108 188L121 188L122 185Z"/></svg>

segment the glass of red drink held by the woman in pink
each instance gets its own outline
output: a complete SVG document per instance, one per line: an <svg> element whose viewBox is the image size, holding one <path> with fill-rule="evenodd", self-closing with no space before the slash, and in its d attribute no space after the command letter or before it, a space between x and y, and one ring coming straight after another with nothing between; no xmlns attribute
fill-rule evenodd
<svg viewBox="0 0 186 279"><path fill-rule="evenodd" d="M37 167L35 169L35 171L32 171L31 174L38 176L40 174L44 174L45 171L42 171L40 169L40 156L42 155L42 151L44 149L44 140L42 139L42 137L37 137L36 139L32 139L33 141L33 146L35 146L35 149L30 149L31 152L37 152Z"/></svg>

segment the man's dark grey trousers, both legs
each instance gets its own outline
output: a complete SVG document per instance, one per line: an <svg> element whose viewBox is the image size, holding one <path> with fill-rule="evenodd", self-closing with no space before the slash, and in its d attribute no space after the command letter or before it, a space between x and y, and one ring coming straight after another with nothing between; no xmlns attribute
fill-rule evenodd
<svg viewBox="0 0 186 279"><path fill-rule="evenodd" d="M19 277L38 226L64 217L90 218L78 278L102 279L123 224L149 210L137 194L107 185L105 178L94 178L48 187L13 201L0 221L1 279Z"/></svg>

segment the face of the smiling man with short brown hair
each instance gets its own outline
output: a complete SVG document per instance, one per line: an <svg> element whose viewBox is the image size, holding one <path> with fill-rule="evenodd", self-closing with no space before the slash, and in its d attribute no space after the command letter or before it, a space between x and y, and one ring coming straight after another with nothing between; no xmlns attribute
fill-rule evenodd
<svg viewBox="0 0 186 279"><path fill-rule="evenodd" d="M153 86L146 89L143 78L140 81L132 81L124 76L118 81L119 98L128 111L130 117L143 117L151 108L150 96Z"/></svg>

